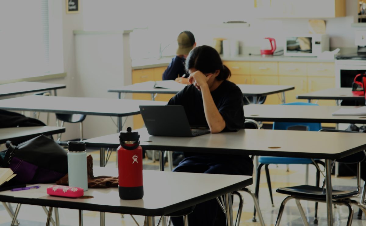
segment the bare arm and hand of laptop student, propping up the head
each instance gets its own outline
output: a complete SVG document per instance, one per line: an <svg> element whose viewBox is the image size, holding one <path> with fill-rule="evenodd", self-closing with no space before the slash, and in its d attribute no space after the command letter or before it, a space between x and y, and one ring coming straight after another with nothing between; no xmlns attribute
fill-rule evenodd
<svg viewBox="0 0 366 226"><path fill-rule="evenodd" d="M196 71L190 75L188 80L194 80L193 84L195 87L201 90L203 110L205 111L206 121L211 133L220 133L225 128L226 123L212 99L212 95L207 84L210 77L212 77L212 74L206 77L202 72Z"/></svg>

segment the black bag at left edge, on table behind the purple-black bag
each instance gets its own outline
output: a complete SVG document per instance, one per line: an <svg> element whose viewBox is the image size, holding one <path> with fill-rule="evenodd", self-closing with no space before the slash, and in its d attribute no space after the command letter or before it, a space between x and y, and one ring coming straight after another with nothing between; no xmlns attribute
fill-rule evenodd
<svg viewBox="0 0 366 226"><path fill-rule="evenodd" d="M16 112L0 109L0 128L26 126L45 126L45 123L38 119L29 118Z"/></svg>

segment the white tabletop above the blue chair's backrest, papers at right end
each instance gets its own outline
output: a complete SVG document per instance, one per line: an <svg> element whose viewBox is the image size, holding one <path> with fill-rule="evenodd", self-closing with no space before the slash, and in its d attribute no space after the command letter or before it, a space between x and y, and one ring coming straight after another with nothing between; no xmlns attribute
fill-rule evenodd
<svg viewBox="0 0 366 226"><path fill-rule="evenodd" d="M358 107L249 104L244 115L265 122L366 123L366 115L332 115L340 108Z"/></svg>

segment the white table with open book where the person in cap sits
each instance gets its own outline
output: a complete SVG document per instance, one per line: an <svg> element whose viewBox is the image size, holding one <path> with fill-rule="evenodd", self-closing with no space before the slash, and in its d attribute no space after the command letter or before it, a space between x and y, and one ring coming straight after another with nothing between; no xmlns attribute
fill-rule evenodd
<svg viewBox="0 0 366 226"><path fill-rule="evenodd" d="M158 81L159 83L165 81ZM172 80L167 80L167 85L164 87L169 87L171 85ZM178 93L184 85L171 85L171 88L154 88L154 81L147 81L144 83L135 83L132 85L126 85L118 88L108 89L108 92L116 92L118 93L118 98L121 99L121 93L151 93L152 100L155 99L156 93L170 93L175 94ZM243 96L247 98L248 96L253 97L253 103L258 103L261 97L274 94L274 93L282 93L282 101L285 103L285 91L289 91L295 89L294 86L290 85L248 85L248 84L237 84L241 89ZM247 98L248 102L251 101Z"/></svg>

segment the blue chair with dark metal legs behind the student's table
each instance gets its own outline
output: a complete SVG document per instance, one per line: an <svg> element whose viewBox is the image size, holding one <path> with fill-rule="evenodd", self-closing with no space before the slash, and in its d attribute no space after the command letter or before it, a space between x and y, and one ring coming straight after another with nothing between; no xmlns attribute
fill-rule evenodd
<svg viewBox="0 0 366 226"><path fill-rule="evenodd" d="M305 103L305 102L294 102L294 103L286 103L285 105L313 105L318 106L318 104L313 103ZM273 123L273 129L274 130L288 130L291 127L294 126L303 126L306 127L307 131L319 131L321 129L320 123L297 123L297 122L274 122ZM314 160L317 164L324 165L324 162L320 160ZM259 179L261 176L261 168L262 166L265 166L265 172L267 177L267 183L269 188L269 195L271 199L272 206L273 205L273 196L272 196L272 186L269 176L269 170L268 165L269 164L314 164L314 162L310 158L288 158L288 157L270 157L270 156L259 156L258 158L259 165L257 167L257 175L256 175L256 184L255 184L255 195L258 198L259 194ZM306 168L306 177L308 178L309 172L308 167ZM317 170L316 175L316 184L319 186L319 180L320 180L320 172ZM306 179L307 181L307 179ZM317 209L317 204L315 203L315 209ZM254 208L254 216L255 216L255 208ZM317 219L317 211L315 211L315 221Z"/></svg>

